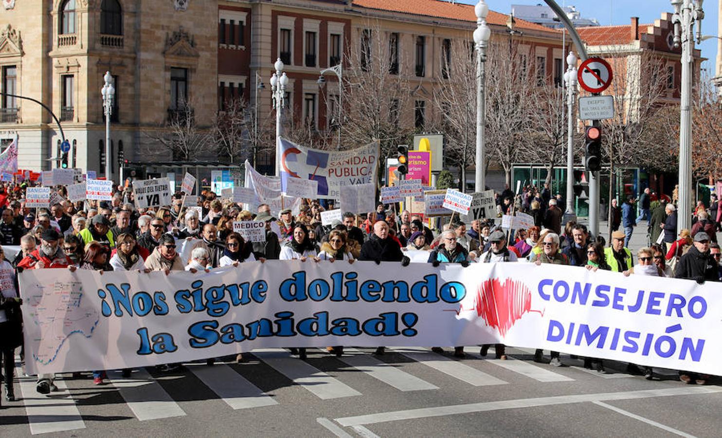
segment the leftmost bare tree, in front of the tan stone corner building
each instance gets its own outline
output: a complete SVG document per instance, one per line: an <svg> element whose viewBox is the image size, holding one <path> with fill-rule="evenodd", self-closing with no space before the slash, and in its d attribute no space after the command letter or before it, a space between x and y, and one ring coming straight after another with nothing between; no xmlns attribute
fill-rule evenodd
<svg viewBox="0 0 722 438"><path fill-rule="evenodd" d="M196 125L193 106L181 105L177 111L168 114L165 126L144 131L151 140L147 153L155 155L157 147L165 149L174 161L193 161L213 152L213 140L209 129Z"/></svg>

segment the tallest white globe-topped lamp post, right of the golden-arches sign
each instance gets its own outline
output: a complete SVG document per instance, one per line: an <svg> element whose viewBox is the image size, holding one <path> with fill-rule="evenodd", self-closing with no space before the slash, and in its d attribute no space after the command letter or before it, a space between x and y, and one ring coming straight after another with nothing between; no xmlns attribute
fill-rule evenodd
<svg viewBox="0 0 722 438"><path fill-rule="evenodd" d="M477 29L474 30L474 44L477 49L477 170L474 186L476 192L483 192L486 188L486 181L484 181L484 124L486 123L484 62L487 60L487 43L492 31L487 26L486 18L487 14L489 14L489 6L484 0L479 0L477 6L474 7L474 12L477 14Z"/></svg>

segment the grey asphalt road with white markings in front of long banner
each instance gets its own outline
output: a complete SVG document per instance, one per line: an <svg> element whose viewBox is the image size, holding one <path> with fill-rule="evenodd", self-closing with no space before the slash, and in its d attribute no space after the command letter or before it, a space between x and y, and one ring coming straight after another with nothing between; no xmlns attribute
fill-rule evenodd
<svg viewBox="0 0 722 438"><path fill-rule="evenodd" d="M0 436L123 437L308 436L697 436L718 437L721 379L684 385L671 370L652 381L607 363L608 374L531 361L508 348L507 361L423 348L349 350L342 358L309 351L253 351L243 364L185 364L176 372L137 369L56 380L60 391L35 392L20 377L19 400L0 409Z"/></svg>

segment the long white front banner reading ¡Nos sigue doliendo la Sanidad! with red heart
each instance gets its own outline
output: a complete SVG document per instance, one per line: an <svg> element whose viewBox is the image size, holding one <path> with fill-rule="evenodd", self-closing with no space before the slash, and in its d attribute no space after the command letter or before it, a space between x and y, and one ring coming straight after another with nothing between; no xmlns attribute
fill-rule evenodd
<svg viewBox="0 0 722 438"><path fill-rule="evenodd" d="M25 270L18 278L27 372L135 368L287 345L505 343L720 374L716 282L513 262L381 263L267 260L102 277Z"/></svg>

